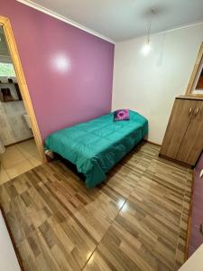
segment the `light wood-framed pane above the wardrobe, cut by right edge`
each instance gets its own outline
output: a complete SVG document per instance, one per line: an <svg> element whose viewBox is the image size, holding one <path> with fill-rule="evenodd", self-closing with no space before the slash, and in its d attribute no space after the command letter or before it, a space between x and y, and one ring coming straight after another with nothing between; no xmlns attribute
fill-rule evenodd
<svg viewBox="0 0 203 271"><path fill-rule="evenodd" d="M189 79L186 94L203 96L203 42L198 51L198 58Z"/></svg>

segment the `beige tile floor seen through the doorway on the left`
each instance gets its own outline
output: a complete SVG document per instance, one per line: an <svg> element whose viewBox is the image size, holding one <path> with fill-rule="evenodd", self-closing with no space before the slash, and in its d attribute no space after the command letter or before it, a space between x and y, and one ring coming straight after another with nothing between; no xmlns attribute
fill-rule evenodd
<svg viewBox="0 0 203 271"><path fill-rule="evenodd" d="M33 139L6 147L0 157L0 184L42 164Z"/></svg>

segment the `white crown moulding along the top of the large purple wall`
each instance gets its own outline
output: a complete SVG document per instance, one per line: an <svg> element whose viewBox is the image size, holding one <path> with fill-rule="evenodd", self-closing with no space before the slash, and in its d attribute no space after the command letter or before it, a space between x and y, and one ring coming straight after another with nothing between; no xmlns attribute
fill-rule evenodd
<svg viewBox="0 0 203 271"><path fill-rule="evenodd" d="M35 4L30 0L16 0L16 1L20 2L20 3L24 4L24 5L29 5L30 7L34 8L36 10L39 10L44 14L51 15L52 17L54 17L54 18L56 18L56 19L58 19L58 20L60 20L62 22L69 23L69 24L71 24L71 25L73 25L73 26L75 26L75 27L77 27L77 28L79 28L79 29L81 29L81 30L83 30L85 32L91 33L91 34L97 36L98 38L100 38L102 40L105 40L106 42L111 42L111 43L115 44L115 41L113 41L112 39L107 38L106 36L104 36L104 35L102 35L100 33L97 33L96 31L93 31L93 30L89 29L88 27L86 27L86 26L84 26L82 24L76 23L76 22L74 22L74 21L72 21L72 20L70 20L70 19L68 19L68 18L66 18L66 17L64 17L64 16L62 16L60 14L57 14L57 13L51 11L50 9L48 9L48 8L42 6L42 5Z"/></svg>

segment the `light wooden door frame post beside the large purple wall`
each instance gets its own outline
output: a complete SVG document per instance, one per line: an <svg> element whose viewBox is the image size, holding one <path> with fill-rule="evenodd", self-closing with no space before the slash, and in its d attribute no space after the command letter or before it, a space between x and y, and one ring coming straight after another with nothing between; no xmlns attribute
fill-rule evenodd
<svg viewBox="0 0 203 271"><path fill-rule="evenodd" d="M14 70L15 70L17 81L18 81L19 89L21 91L21 95L23 98L24 107L27 111L28 116L30 117L30 120L31 120L34 140L37 145L38 152L41 156L41 160L42 160L42 162L45 162L46 157L43 152L42 136L41 136L40 129L39 129L37 119L36 119L36 116L34 113L34 109L32 106L32 99L30 97L30 93L29 93L29 90L28 90L28 87L26 84L26 80L24 77L22 63L20 60L20 56L19 56L19 53L17 50L16 43L14 41L14 33L12 30L12 25L10 23L9 18L0 15L0 25L4 29L5 39L6 39L8 49L9 49L11 57L12 57L13 64L14 64Z"/></svg>

